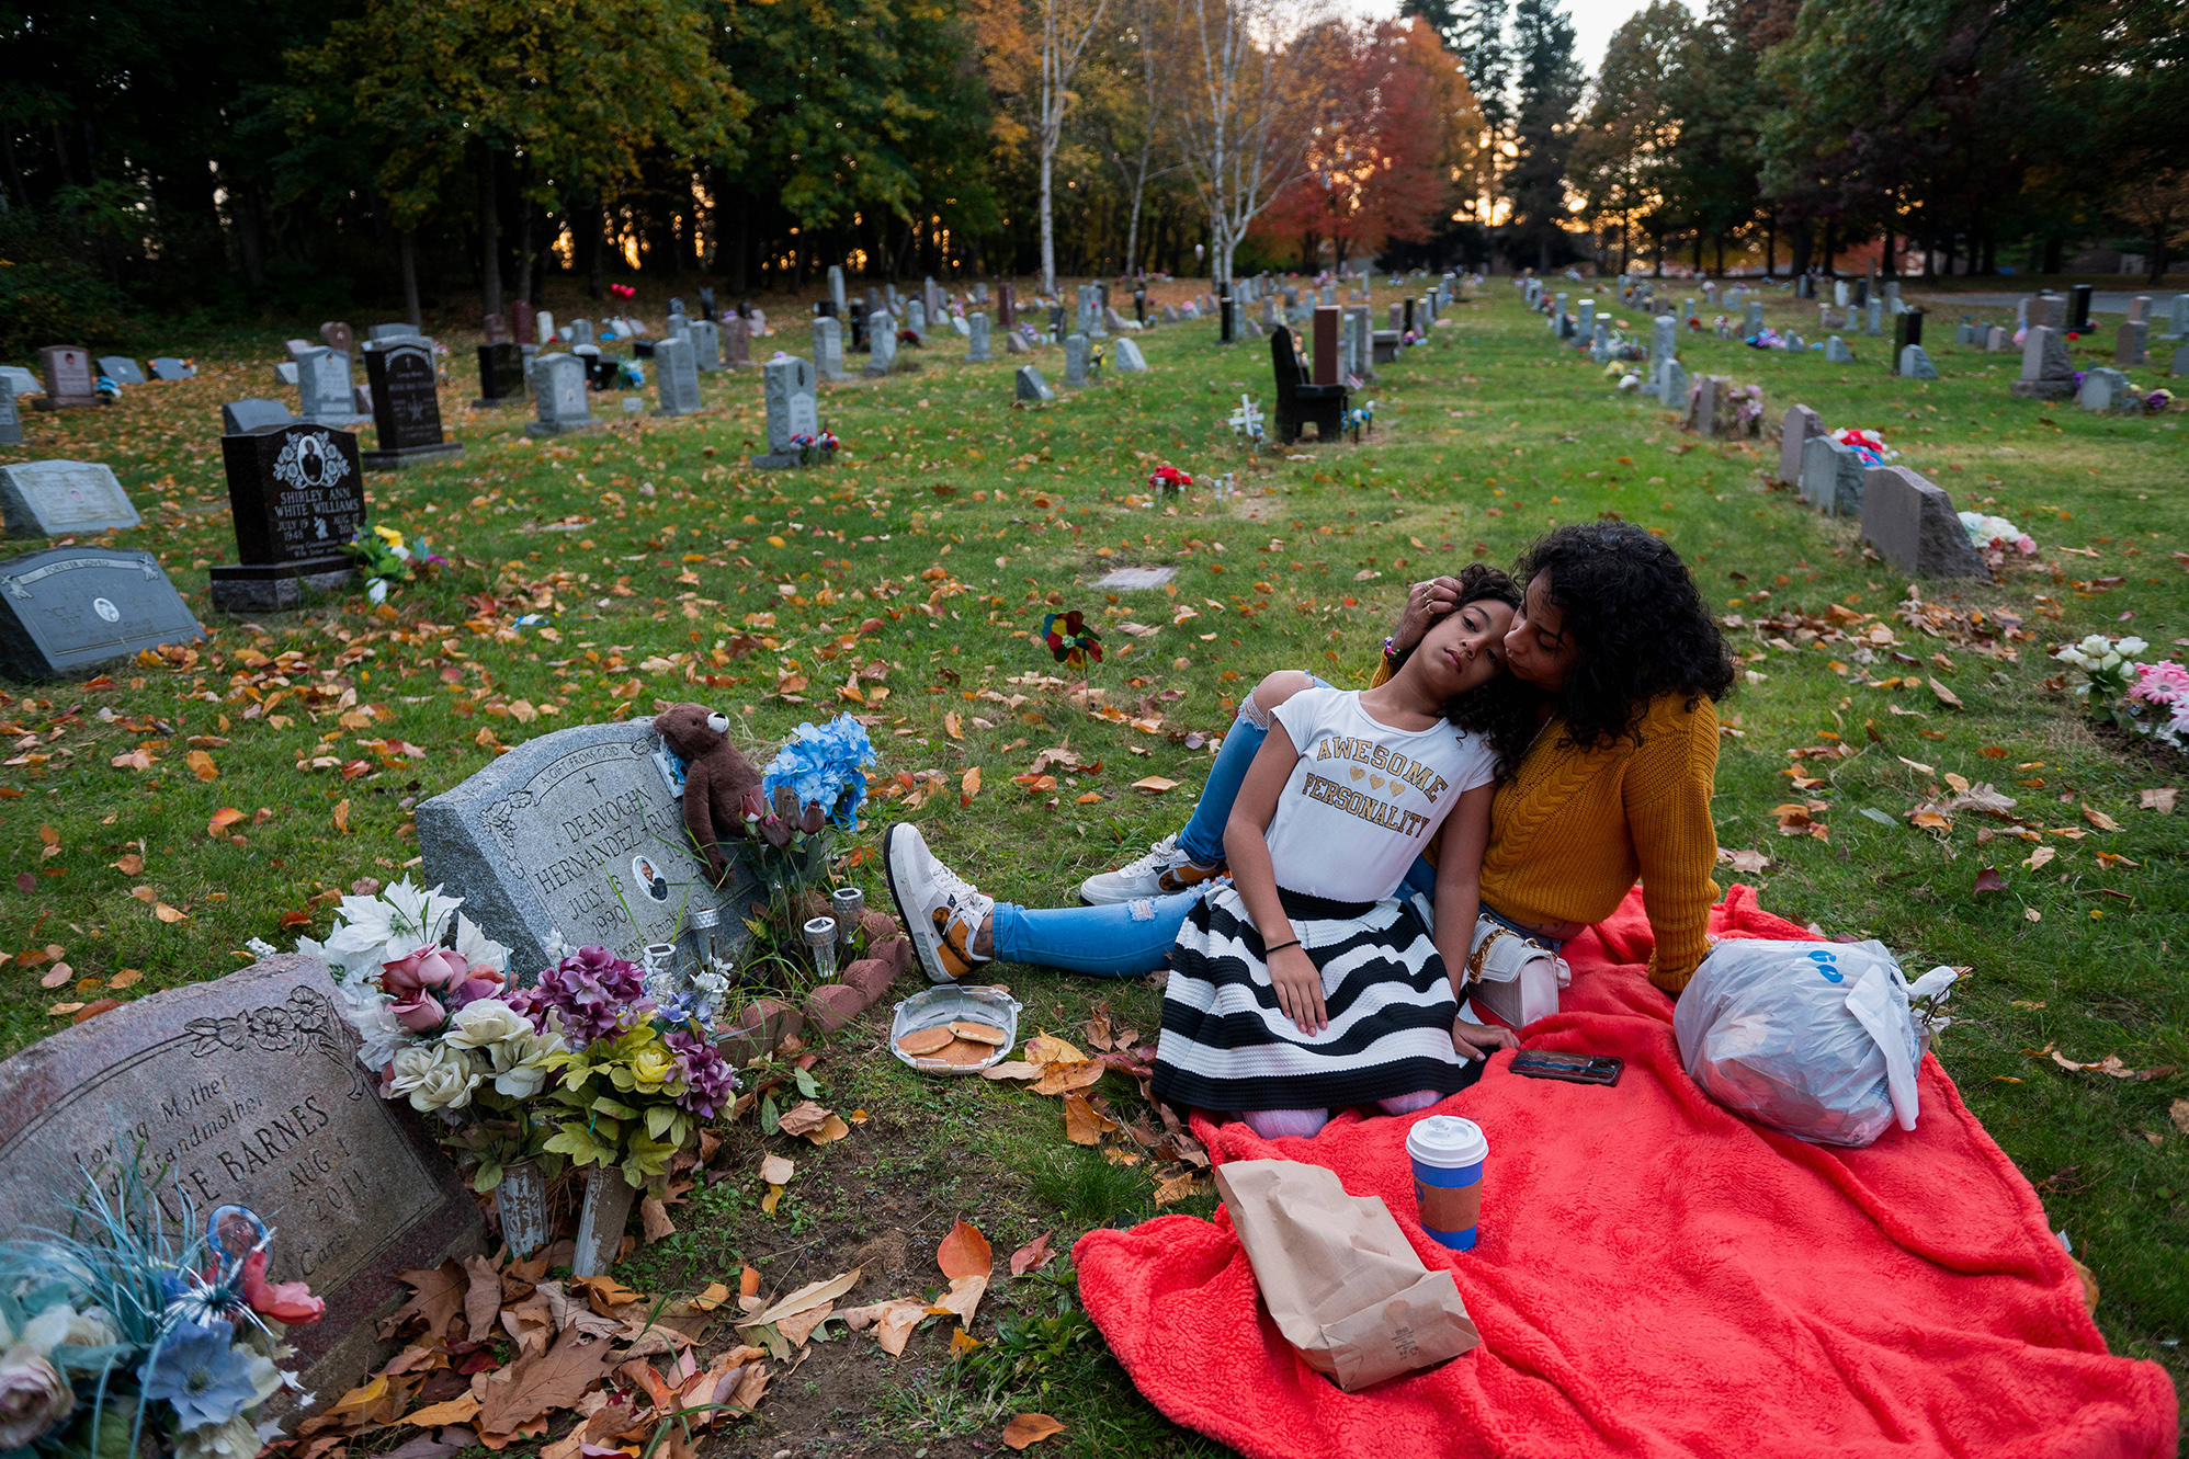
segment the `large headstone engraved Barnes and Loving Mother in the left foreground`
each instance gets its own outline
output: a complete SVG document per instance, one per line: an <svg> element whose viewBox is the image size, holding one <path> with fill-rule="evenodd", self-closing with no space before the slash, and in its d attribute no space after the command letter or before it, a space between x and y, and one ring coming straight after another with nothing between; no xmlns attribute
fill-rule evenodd
<svg viewBox="0 0 2189 1459"><path fill-rule="evenodd" d="M280 1232L267 1277L326 1299L285 1339L326 1398L392 1352L374 1326L409 1297L401 1273L488 1249L449 1159L372 1089L317 958L153 993L0 1063L4 1229L66 1229L83 1172L112 1190L123 1162L169 1236L230 1203Z"/></svg>

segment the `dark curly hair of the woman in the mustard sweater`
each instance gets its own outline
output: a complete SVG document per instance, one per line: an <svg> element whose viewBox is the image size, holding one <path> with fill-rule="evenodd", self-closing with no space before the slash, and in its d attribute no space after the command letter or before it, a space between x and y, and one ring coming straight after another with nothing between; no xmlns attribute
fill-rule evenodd
<svg viewBox="0 0 2189 1459"><path fill-rule="evenodd" d="M1576 523L1539 538L1513 569L1543 580L1580 647L1559 715L1574 746L1640 742L1642 715L1664 693L1723 700L1734 687L1725 637L1694 575L1664 540L1633 523Z"/></svg>

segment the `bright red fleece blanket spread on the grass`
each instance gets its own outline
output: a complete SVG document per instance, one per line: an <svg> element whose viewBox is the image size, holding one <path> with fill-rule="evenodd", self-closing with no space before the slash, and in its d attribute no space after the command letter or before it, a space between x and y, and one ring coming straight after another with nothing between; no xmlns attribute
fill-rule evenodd
<svg viewBox="0 0 2189 1459"><path fill-rule="evenodd" d="M1802 938L1736 886L1721 936ZM1482 1345L1344 1393L1278 1337L1230 1229L1158 1216L1075 1247L1088 1312L1167 1415L1256 1459L1362 1455L2171 1457L2156 1363L2106 1354L2036 1192L1937 1059L1922 1116L1867 1151L1804 1144L1714 1105L1642 976L1640 895L1572 945L1532 1048L1618 1054L1618 1087L1519 1078L1499 1054L1436 1113L1491 1140L1480 1245L1414 1216L1414 1118L1313 1140L1197 1131L1211 1157L1302 1159L1377 1194L1449 1267ZM1953 1037L1953 1035L1946 1035Z"/></svg>

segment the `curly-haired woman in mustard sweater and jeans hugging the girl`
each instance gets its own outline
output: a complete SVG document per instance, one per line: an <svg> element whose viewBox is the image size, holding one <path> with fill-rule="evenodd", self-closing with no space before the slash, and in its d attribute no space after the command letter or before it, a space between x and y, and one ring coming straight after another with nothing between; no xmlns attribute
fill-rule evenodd
<svg viewBox="0 0 2189 1459"><path fill-rule="evenodd" d="M1482 914L1556 952L1640 879L1655 934L1648 976L1677 995L1707 952L1718 899L1710 796L1716 700L1734 685L1725 639L1679 553L1626 523L1561 527L1521 556L1515 577L1526 593L1510 628L1469 639L1510 672L1515 713L1537 722L1491 803ZM1416 584L1375 682L1432 621L1467 612L1464 597L1451 577ZM915 827L891 827L889 884L928 978L952 982L989 958L1108 978L1162 967L1200 888L1224 875L1224 829L1270 711L1316 682L1287 669L1256 685L1186 829L1090 877L1081 897L1092 906L996 903L937 862ZM1432 844L1425 862L1434 857ZM1434 868L1416 864L1408 884L1434 895Z"/></svg>

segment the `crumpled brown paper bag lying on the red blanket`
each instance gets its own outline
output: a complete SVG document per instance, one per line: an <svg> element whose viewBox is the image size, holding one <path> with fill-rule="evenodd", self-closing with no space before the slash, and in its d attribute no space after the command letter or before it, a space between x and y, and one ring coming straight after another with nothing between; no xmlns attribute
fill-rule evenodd
<svg viewBox="0 0 2189 1459"><path fill-rule="evenodd" d="M1217 1190L1278 1332L1348 1393L1482 1343L1449 1271L1414 1256L1379 1197L1294 1159L1217 1166Z"/></svg>

